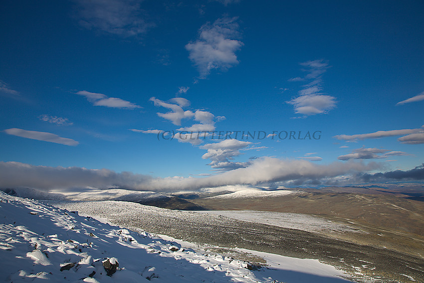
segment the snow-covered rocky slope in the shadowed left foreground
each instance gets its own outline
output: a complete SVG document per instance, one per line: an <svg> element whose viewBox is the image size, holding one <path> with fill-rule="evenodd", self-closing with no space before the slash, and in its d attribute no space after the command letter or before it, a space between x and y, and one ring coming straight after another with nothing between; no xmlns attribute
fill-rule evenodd
<svg viewBox="0 0 424 283"><path fill-rule="evenodd" d="M247 262L2 192L0 219L0 282L348 282L316 260L265 253L268 267L251 271Z"/></svg>

